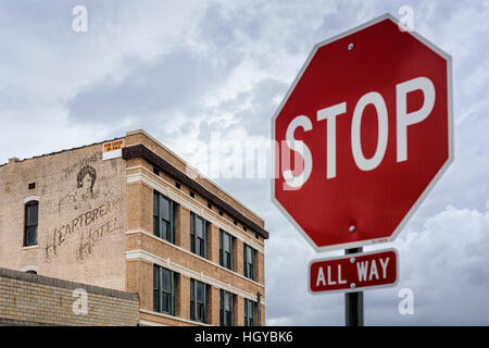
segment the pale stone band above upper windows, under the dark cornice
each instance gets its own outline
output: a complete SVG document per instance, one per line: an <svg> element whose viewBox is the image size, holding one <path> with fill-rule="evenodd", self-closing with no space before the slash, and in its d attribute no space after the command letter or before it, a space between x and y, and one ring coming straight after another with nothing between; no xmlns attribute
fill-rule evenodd
<svg viewBox="0 0 489 348"><path fill-rule="evenodd" d="M154 173L151 173L148 169L146 169L142 165L127 167L127 170L135 170L135 169L142 169L142 170L147 171L148 173L156 176ZM209 210L209 208L203 206L198 200L191 198L189 195L185 194L184 191L178 190L176 187L173 187L173 185L171 183L166 182L164 178L158 176L158 178L163 181L163 183L168 185L168 187L165 187L165 186L156 183L153 178L148 177L143 173L127 174L126 177L127 177L127 184L142 182L146 185L150 186L151 188L160 191L160 194L168 197L170 199L177 202L178 204L187 208L188 210L202 216L204 220L206 220L210 223L216 225L217 227L224 229L225 232L233 235L234 237L236 237L236 238L240 239L241 241L248 244L249 246L253 247L261 253L265 252L264 243L262 243L261 240L255 240L254 236L251 236L250 233L248 233L244 229L239 229L239 233L237 233L235 231L235 228L237 229L239 227L237 227L236 225L231 224L230 222L228 222L226 220L224 220L225 223L221 222L217 217L220 215L216 212ZM181 195L186 196L186 198L188 200L181 198L177 192L180 192ZM191 200L191 201L189 201L189 200ZM222 216L220 216L220 217L223 219ZM247 236L243 236L242 234L246 234ZM260 243L260 245L258 243Z"/></svg>

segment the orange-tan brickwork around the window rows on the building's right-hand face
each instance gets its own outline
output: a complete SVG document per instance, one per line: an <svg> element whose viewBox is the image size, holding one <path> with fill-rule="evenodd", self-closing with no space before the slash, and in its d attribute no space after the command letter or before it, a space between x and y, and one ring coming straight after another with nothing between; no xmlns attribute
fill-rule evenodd
<svg viewBox="0 0 489 348"><path fill-rule="evenodd" d="M133 163L135 164L135 163ZM162 185L166 187L167 189L171 189L172 192L175 195L178 195L179 197L184 198L186 201L191 202L192 200L199 201L200 197L199 195L195 195L195 198L190 198L187 195L185 195L184 189L178 189L175 186L171 185L171 178L163 177L163 174L160 173L160 175L154 175L152 173L151 166L148 163L139 162L137 165L142 165L148 169L151 173L148 173L141 169L131 169L128 171L128 175L133 174L142 174L146 177L150 177L151 179L159 183L159 185ZM159 179L159 178L162 179ZM148 234L152 235L152 188L149 186L149 184L143 182L136 182L128 184L128 191L134 192L134 197L138 197L138 200L136 202L133 202L134 208L128 208L128 211L135 211L137 212L138 216L137 219L134 219L133 222L128 222L128 225L130 225L130 229L133 231L145 231ZM142 194L141 194L142 192ZM129 194L129 200L131 195ZM139 199L140 198L140 199ZM146 199L146 203L143 200ZM202 202L201 209L209 209L205 201ZM147 207L145 209L140 209L139 207ZM205 208L204 208L205 207ZM213 208L213 207L212 207ZM141 215L142 214L142 215ZM146 217L143 216L146 215ZM217 219L224 220L225 216L217 216ZM148 226L145 223L139 223L138 221L148 221L151 222L151 226ZM235 225L233 225L230 228L233 228L239 234L243 234L243 232L239 228L236 228ZM175 229L176 229L176 246L180 247L181 249L189 251L190 250L190 211L188 208L178 204L176 210L176 221L175 221ZM244 238L250 238L249 235L246 235ZM252 237L254 239L254 235ZM262 240L254 239L258 245L263 245ZM264 287L261 285L258 285L254 282L250 282L249 279L238 276L233 272L229 272L227 270L224 270L216 264L220 264L220 227L213 223L208 223L208 260L215 263L212 264L210 262L206 262L198 257L196 257L192 253L185 252L178 248L175 248L172 244L162 241L159 238L150 237L145 234L137 234L133 233L127 235L126 239L126 251L129 250L143 250L146 252L149 252L152 256L155 256L158 258L161 258L163 260L170 259L171 262L178 264L179 266L183 266L187 270L197 272L197 274L203 273L204 276L211 277L217 282L221 282L222 284L230 284L233 287L243 290L244 293L256 295L258 291L260 291L264 298ZM256 258L256 281L261 282L261 284L264 284L264 254L262 252L255 253ZM128 263L134 262L141 262L140 261L129 261ZM162 266L165 266L164 262L161 264ZM128 272L131 269L128 266ZM243 275L243 241L239 238L235 238L234 243L234 271L240 275ZM138 272L141 272L138 270ZM128 287L131 291L136 291L139 294L141 298L141 308L148 312L145 313L145 318L148 321L151 321L153 323L164 324L164 325L195 325L198 323L189 322L190 315L190 287L189 282L190 278L187 275L178 273L178 281L176 284L176 318L172 315L166 314L160 314L152 312L152 291L143 291L143 287L152 286L152 274L148 270L146 272L147 276L141 275L139 278L139 286L140 289L136 289L133 287ZM128 274L128 277L130 277L130 274ZM199 276L197 276L198 279ZM143 283L147 283L146 285ZM208 323L211 325L218 325L220 324L220 288L209 285L209 294L208 297ZM148 298L147 298L148 297ZM236 301L240 303L240 306L235 308L235 325L242 325L243 324L243 298L239 295L235 295ZM147 303L147 304L145 304ZM264 309L264 306L263 306ZM258 314L258 313L256 313ZM265 312L263 310L262 312L263 323L265 318ZM181 319L181 320L180 320Z"/></svg>

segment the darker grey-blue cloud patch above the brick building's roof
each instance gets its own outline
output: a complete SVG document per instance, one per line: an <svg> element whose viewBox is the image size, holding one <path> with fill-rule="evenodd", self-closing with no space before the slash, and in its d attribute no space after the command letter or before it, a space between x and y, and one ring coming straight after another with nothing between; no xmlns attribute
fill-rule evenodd
<svg viewBox="0 0 489 348"><path fill-rule="evenodd" d="M130 61L131 73L122 82L104 80L68 102L70 114L88 122L113 122L124 116L158 113L170 122L173 109L190 112L216 80L223 67L189 50L168 53L154 63Z"/></svg>

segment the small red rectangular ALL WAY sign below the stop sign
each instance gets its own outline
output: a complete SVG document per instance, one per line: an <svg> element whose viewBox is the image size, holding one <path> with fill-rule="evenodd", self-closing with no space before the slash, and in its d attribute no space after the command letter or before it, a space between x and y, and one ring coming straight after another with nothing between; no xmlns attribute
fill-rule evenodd
<svg viewBox="0 0 489 348"><path fill-rule="evenodd" d="M396 249L313 260L309 265L309 291L349 293L394 286L398 266Z"/></svg>

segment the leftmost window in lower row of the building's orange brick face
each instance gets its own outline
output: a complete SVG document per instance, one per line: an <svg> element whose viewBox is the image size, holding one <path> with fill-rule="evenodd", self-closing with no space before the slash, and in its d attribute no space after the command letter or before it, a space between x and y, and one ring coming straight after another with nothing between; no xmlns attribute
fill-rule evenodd
<svg viewBox="0 0 489 348"><path fill-rule="evenodd" d="M153 265L153 309L175 315L175 273Z"/></svg>

